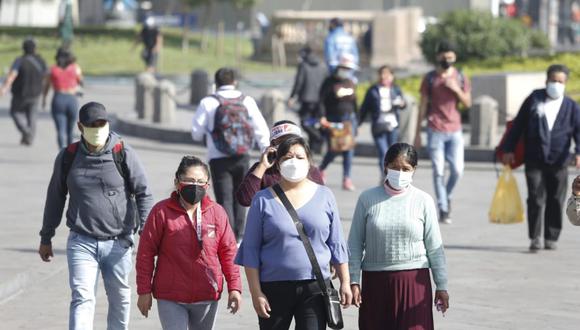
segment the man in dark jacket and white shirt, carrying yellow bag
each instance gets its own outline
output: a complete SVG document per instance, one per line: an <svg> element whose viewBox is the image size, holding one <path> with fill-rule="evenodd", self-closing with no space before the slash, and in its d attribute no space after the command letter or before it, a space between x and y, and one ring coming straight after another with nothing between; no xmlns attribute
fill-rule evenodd
<svg viewBox="0 0 580 330"><path fill-rule="evenodd" d="M572 139L576 168L580 168L580 107L564 95L570 71L561 64L548 67L546 88L533 91L513 120L502 149L504 164L514 162L515 146L523 138L528 186L530 251L556 249L568 188L568 159Z"/></svg>

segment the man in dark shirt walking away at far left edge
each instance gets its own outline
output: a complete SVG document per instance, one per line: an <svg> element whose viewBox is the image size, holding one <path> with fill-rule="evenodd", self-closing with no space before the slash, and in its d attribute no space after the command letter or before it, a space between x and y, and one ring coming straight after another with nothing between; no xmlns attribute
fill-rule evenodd
<svg viewBox="0 0 580 330"><path fill-rule="evenodd" d="M36 134L36 116L46 75L46 64L36 54L36 42L26 39L22 43L24 54L14 60L10 72L0 87L0 95L12 92L10 116L22 134L20 144L31 145Z"/></svg>

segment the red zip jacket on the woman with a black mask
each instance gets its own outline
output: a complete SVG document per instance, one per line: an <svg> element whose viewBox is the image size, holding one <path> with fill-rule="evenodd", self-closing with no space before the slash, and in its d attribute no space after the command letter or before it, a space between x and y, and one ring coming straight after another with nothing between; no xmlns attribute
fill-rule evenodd
<svg viewBox="0 0 580 330"><path fill-rule="evenodd" d="M203 249L175 192L153 207L137 250L138 294L152 292L157 299L183 303L219 300L224 276L228 291L242 291L234 264L236 239L225 210L206 196L201 212Z"/></svg>

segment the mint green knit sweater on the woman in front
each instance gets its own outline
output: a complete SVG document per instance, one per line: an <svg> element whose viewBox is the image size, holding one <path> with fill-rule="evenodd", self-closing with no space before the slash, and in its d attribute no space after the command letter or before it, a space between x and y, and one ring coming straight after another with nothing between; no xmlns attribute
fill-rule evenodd
<svg viewBox="0 0 580 330"><path fill-rule="evenodd" d="M383 186L358 199L348 236L353 283L364 271L431 268L437 290L447 290L443 242L433 198L409 186L390 196Z"/></svg>

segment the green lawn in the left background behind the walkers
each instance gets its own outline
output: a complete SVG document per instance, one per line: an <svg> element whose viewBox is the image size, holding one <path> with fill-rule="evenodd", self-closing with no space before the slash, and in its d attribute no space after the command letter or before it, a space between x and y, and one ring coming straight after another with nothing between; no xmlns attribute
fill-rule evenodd
<svg viewBox="0 0 580 330"><path fill-rule="evenodd" d="M141 45L134 47L138 29L80 28L75 30L73 52L87 75L134 75L144 69L141 60ZM181 49L181 30L163 29L164 47L159 69L162 74L189 74L202 68L213 73L222 66L235 66L242 71L272 71L269 63L250 60L252 46L249 40L241 39L241 60L236 63L236 38L227 35L222 56L218 56L215 36L210 37L207 52L199 49L201 34L190 34L187 52ZM0 65L6 72L12 61L21 55L21 43L27 36L37 41L38 52L47 63L54 63L59 46L55 29L0 28Z"/></svg>

